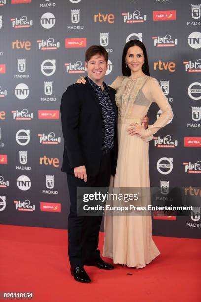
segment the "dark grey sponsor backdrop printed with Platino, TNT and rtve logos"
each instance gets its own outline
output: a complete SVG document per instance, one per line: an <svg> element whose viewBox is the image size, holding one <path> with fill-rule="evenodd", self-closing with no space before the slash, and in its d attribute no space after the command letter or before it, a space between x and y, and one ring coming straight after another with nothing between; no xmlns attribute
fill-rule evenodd
<svg viewBox="0 0 201 302"><path fill-rule="evenodd" d="M86 75L84 53L109 53L105 81L121 74L131 39L147 47L174 119L150 142L158 201L183 187L193 211L154 213L154 235L199 238L201 230L201 4L193 0L0 0L0 222L67 228L69 195L60 172L60 100ZM149 111L150 123L161 114ZM90 143L90 142L89 142ZM176 194L170 196L170 188Z"/></svg>

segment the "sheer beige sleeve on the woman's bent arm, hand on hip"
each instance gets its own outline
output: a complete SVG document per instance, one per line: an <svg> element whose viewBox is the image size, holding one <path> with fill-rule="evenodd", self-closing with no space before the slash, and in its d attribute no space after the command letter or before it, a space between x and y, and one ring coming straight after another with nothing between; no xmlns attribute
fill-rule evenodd
<svg viewBox="0 0 201 302"><path fill-rule="evenodd" d="M151 78L150 81L150 101L157 103L162 111L162 114L153 125L146 130L142 130L142 138L155 134L160 128L167 125L168 121L170 121L170 119L172 119L174 116L171 106L169 105L169 102L167 101L161 87L158 84L158 81L155 78Z"/></svg>

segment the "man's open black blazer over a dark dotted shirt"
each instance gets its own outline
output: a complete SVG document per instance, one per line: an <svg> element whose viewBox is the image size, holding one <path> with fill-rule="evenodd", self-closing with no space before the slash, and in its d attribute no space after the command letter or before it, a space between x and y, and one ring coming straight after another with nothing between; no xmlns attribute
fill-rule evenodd
<svg viewBox="0 0 201 302"><path fill-rule="evenodd" d="M116 90L109 87L108 94L115 112L114 147L111 151L111 173L117 164L117 107ZM100 167L105 126L103 113L92 86L87 81L67 87L61 101L64 154L62 171L74 174L74 167L85 165L87 176L95 176Z"/></svg>

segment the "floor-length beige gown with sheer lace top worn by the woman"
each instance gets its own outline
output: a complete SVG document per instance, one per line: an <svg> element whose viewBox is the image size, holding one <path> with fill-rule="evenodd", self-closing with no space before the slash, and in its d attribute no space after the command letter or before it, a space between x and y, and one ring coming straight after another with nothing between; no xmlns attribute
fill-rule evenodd
<svg viewBox="0 0 201 302"><path fill-rule="evenodd" d="M173 117L171 106L152 77L133 80L118 76L111 86L117 90L118 106L118 161L114 189L150 187L148 140ZM141 125L152 102L156 102L163 113L153 125L142 131L141 136L129 135L126 131L129 124ZM143 268L159 254L152 239L151 216L105 214L104 257L113 259L115 264Z"/></svg>

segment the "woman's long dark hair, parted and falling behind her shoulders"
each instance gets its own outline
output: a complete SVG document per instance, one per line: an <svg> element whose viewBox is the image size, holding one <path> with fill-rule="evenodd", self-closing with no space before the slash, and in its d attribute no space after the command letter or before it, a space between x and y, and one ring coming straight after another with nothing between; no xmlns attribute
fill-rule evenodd
<svg viewBox="0 0 201 302"><path fill-rule="evenodd" d="M146 48L145 48L144 44L139 40L131 40L131 41L127 42L126 45L124 46L123 54L122 54L122 74L123 74L123 76L131 76L131 70L129 67L126 67L125 60L126 60L126 54L127 54L128 49L133 46L139 46L142 49L143 54L144 54L144 66L142 67L142 71L145 75L150 76Z"/></svg>

